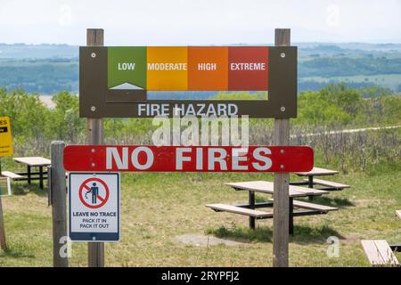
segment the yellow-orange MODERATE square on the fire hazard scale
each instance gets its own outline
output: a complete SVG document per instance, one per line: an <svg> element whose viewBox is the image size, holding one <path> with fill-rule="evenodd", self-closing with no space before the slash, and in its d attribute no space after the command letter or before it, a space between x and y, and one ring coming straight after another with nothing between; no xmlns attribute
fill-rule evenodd
<svg viewBox="0 0 401 285"><path fill-rule="evenodd" d="M147 47L148 90L188 89L188 48L186 46Z"/></svg>

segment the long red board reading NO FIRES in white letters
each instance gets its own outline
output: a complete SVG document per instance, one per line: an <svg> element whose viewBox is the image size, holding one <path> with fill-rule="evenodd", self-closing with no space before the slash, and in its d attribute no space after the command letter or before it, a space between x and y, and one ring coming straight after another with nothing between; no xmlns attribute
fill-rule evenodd
<svg viewBox="0 0 401 285"><path fill-rule="evenodd" d="M68 171L294 172L313 167L307 146L70 145Z"/></svg>

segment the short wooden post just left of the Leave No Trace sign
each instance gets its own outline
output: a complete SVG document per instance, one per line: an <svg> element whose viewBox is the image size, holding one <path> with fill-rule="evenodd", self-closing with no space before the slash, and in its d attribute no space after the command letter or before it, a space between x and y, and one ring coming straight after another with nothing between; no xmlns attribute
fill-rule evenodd
<svg viewBox="0 0 401 285"><path fill-rule="evenodd" d="M53 216L53 266L68 267L68 256L61 256L61 238L67 234L67 191L65 184L65 170L63 165L64 142L52 142L51 146L51 181L50 191L52 191L52 216Z"/></svg>

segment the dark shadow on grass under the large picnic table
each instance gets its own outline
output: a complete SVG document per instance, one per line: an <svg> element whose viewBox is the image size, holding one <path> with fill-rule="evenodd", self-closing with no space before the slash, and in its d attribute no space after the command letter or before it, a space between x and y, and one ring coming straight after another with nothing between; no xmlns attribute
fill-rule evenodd
<svg viewBox="0 0 401 285"><path fill-rule="evenodd" d="M272 242L273 240L273 230L267 226L260 226L252 230L249 227L225 227L222 225L217 228L209 228L205 233L212 234L220 239L258 242ZM290 235L290 241L299 244L326 243L327 239L331 236L337 237L340 240L345 239L340 232L337 232L328 225L319 227L294 225L294 235Z"/></svg>

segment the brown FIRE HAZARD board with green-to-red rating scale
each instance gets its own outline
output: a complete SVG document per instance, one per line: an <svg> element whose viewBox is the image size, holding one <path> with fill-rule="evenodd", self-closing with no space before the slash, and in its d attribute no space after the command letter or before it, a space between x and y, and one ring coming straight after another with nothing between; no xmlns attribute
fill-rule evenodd
<svg viewBox="0 0 401 285"><path fill-rule="evenodd" d="M79 49L83 118L297 117L297 47ZM149 100L148 91L267 91L267 100Z"/></svg>

